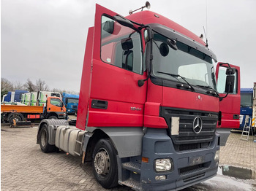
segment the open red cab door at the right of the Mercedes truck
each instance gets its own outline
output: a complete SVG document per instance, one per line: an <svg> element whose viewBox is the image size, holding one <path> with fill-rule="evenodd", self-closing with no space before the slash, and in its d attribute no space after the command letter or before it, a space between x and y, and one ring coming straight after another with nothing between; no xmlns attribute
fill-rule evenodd
<svg viewBox="0 0 256 191"><path fill-rule="evenodd" d="M219 111L222 112L221 128L239 128L239 115L240 115L240 68L230 64L231 68L235 68L235 84L233 93L229 93L226 98L219 101ZM218 63L216 69L217 77L217 90L221 97L226 95L226 69L227 63Z"/></svg>

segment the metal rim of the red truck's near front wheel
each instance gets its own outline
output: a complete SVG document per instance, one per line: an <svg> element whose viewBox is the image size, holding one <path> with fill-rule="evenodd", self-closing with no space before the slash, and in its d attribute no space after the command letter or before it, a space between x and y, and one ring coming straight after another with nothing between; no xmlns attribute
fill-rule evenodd
<svg viewBox="0 0 256 191"><path fill-rule="evenodd" d="M110 157L105 149L99 149L94 157L94 168L97 174L106 176L110 171Z"/></svg>

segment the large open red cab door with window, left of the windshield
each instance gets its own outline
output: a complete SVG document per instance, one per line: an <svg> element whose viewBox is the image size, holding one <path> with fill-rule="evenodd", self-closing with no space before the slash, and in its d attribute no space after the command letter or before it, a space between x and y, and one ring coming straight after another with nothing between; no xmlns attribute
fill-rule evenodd
<svg viewBox="0 0 256 191"><path fill-rule="evenodd" d="M87 126L143 126L147 85L138 86L146 78L140 31L118 23L116 15L96 5Z"/></svg>

